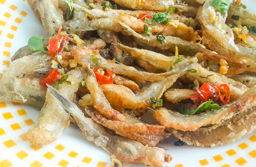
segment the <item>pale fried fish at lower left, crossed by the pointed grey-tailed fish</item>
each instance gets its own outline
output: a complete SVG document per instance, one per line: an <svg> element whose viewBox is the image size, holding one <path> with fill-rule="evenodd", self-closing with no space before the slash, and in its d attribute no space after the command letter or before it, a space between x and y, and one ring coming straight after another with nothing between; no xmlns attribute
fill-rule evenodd
<svg viewBox="0 0 256 167"><path fill-rule="evenodd" d="M82 81L82 73L79 67L77 67L67 74L67 80L71 82L71 85L64 82L60 84L58 91L70 100L73 100L75 92ZM34 127L26 133L28 141L36 147L52 143L60 138L69 124L69 119L70 115L65 112L62 106L47 91L46 101L41 109L38 120Z"/></svg>

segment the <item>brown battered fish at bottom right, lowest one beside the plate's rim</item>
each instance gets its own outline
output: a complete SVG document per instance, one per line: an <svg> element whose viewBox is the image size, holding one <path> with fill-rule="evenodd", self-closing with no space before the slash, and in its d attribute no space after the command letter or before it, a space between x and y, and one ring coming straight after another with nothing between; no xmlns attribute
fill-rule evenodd
<svg viewBox="0 0 256 167"><path fill-rule="evenodd" d="M208 128L199 128L196 131L181 131L171 128L168 131L188 145L199 147L224 145L251 134L256 129L255 109L254 106L244 112L236 112L232 118Z"/></svg>

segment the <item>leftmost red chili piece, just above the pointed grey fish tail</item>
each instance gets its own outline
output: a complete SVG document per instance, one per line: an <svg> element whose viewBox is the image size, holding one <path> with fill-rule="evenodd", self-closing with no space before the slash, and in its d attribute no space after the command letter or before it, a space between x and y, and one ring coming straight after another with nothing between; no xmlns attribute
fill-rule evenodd
<svg viewBox="0 0 256 167"><path fill-rule="evenodd" d="M40 81L40 85L43 87L47 87L46 84L52 85L55 81L60 79L61 75L58 69L52 69L49 71Z"/></svg>

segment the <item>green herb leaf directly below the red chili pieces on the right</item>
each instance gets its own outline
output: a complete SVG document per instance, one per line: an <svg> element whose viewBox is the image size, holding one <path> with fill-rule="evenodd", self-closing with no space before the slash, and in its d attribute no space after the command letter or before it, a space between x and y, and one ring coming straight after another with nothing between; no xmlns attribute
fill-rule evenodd
<svg viewBox="0 0 256 167"><path fill-rule="evenodd" d="M186 115L193 115L198 111L206 111L206 110L219 110L221 107L218 106L218 104L211 104L212 101L206 101L202 104L200 104L200 106L198 106L196 108L196 110L194 109L188 109L188 108L184 108L183 106L177 106L176 109L178 110L178 112L180 112L181 114L186 114Z"/></svg>

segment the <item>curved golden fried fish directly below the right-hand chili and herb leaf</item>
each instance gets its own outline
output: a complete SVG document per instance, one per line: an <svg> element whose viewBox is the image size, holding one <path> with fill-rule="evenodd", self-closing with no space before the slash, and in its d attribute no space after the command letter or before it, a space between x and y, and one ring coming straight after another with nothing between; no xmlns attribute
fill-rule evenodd
<svg viewBox="0 0 256 167"><path fill-rule="evenodd" d="M244 112L255 105L256 94L252 94L242 100L227 104L219 110L206 111L197 115L184 115L166 108L158 108L154 111L154 117L167 128L195 131L207 124L219 124L222 120L231 118L235 112Z"/></svg>

